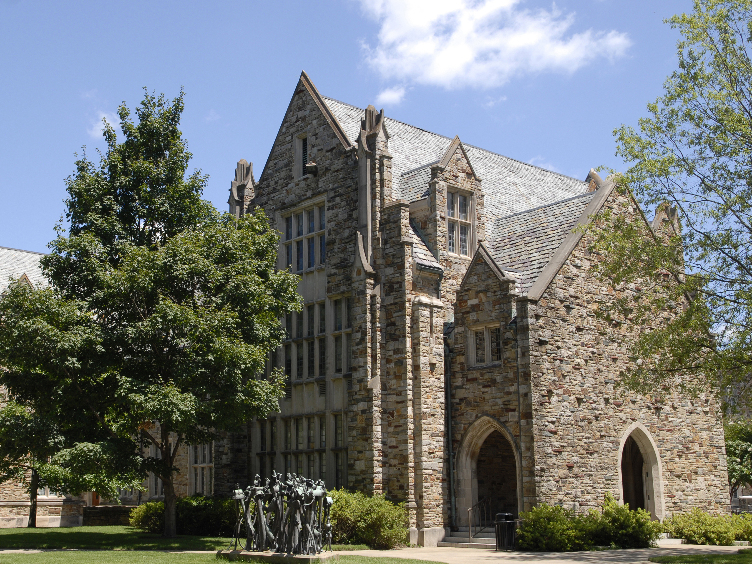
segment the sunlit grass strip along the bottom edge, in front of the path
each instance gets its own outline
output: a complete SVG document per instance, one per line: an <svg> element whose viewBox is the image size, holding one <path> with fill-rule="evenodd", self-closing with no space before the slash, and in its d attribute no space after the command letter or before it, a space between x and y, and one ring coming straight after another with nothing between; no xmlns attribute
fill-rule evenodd
<svg viewBox="0 0 752 564"><path fill-rule="evenodd" d="M184 554L126 550L71 550L65 552L41 552L37 554L2 554L2 564L220 564L214 554ZM429 560L405 558L340 556L340 564L444 564Z"/></svg>

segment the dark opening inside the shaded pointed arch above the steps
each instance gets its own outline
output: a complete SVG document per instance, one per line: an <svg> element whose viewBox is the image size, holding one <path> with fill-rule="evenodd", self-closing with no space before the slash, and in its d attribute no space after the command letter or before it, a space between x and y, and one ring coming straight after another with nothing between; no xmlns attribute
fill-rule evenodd
<svg viewBox="0 0 752 564"><path fill-rule="evenodd" d="M512 513L517 519L517 461L512 445L493 431L478 451L478 501L490 500L492 515Z"/></svg>

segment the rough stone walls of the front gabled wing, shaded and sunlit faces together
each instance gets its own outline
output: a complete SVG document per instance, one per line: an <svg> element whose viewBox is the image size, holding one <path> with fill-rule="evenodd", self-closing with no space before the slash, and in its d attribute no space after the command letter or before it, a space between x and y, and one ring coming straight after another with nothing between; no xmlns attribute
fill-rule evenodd
<svg viewBox="0 0 752 564"><path fill-rule="evenodd" d="M631 200L616 191L605 204L615 214L641 220ZM626 343L637 328L629 320L605 326L596 310L635 287L613 288L593 275L601 259L588 250L590 235L575 247L538 302L515 298L482 260L457 293L453 338L453 441L455 451L468 427L482 415L505 426L520 444L523 509L540 502L575 507L602 504L607 491L620 498L620 446L629 429L645 429L643 448L653 449L660 480L657 517L701 507L727 511L726 458L720 403L710 395L691 401L677 392L639 396L618 387L630 367ZM474 324L507 327L503 360L469 365L468 331ZM666 315L669 315L667 312ZM518 412L515 353L519 353ZM521 425L517 423L520 417ZM630 430L630 432L632 432ZM639 431L641 432L641 430ZM636 436L636 435L633 435ZM663 504L663 507L658 505Z"/></svg>

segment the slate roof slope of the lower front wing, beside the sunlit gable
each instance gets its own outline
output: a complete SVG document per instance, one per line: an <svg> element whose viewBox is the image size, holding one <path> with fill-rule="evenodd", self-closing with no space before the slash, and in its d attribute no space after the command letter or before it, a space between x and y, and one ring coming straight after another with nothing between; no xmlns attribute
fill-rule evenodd
<svg viewBox="0 0 752 564"><path fill-rule="evenodd" d="M590 192L553 202L520 214L499 217L494 222L495 235L488 245L491 256L502 271L513 270L510 274L520 280L522 293L535 283L595 194Z"/></svg>

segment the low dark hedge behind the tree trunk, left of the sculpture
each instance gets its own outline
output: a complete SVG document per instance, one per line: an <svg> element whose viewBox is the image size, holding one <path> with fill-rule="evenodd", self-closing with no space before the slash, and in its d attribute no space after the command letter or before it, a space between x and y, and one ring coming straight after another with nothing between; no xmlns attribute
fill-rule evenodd
<svg viewBox="0 0 752 564"><path fill-rule="evenodd" d="M232 499L190 496L180 497L175 502L178 535L232 537L235 515L235 502ZM162 532L165 528L165 504L148 502L139 505L131 511L130 523L144 532ZM245 534L244 530L241 534Z"/></svg>

